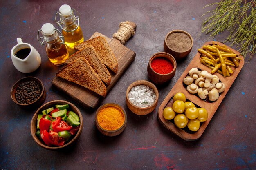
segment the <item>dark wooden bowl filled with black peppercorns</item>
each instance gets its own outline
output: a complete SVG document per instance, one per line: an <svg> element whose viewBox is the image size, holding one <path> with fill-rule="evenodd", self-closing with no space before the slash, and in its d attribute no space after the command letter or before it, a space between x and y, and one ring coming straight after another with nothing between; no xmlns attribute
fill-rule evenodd
<svg viewBox="0 0 256 170"><path fill-rule="evenodd" d="M43 82L36 77L19 79L11 88L11 99L22 108L35 108L46 98Z"/></svg>

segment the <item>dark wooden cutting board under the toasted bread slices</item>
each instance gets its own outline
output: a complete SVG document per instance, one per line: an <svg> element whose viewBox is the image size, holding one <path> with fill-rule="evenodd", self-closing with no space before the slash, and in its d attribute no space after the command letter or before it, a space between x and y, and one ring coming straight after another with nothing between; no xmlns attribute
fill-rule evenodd
<svg viewBox="0 0 256 170"><path fill-rule="evenodd" d="M134 30L136 30L135 23L130 22L130 25L133 27ZM126 48L126 46L121 44L119 40L115 38L108 38L107 36L98 32L95 32L90 39L97 36L103 36L106 38L108 45L115 54L118 62L118 71L116 74L108 69L111 75L111 83L110 85L106 86L108 95L109 91L113 88L113 86L115 86L121 75L123 75L123 73L132 63L132 61L135 59L136 53ZM85 108L94 109L104 99L104 97L101 97L97 93L94 93L87 88L84 88L83 86L79 86L75 83L69 82L59 77L54 77L54 79L52 80L52 85L58 90L70 96L72 99L74 99Z"/></svg>

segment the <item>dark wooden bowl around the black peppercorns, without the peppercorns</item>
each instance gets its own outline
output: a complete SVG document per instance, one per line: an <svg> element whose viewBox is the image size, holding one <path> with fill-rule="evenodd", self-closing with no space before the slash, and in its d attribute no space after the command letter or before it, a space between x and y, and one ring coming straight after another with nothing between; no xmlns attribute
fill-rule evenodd
<svg viewBox="0 0 256 170"><path fill-rule="evenodd" d="M22 84L23 82L28 82L28 81L38 82L42 87L42 92L41 92L40 96L34 102L31 102L31 103L28 103L28 104L21 104L21 103L18 102L18 99L16 99L15 93L17 91L17 87L20 84ZM11 99L13 100L13 102L15 104L19 105L22 108L35 108L36 106L40 106L45 101L45 98L46 98L46 92L45 92L45 87L43 85L43 82L40 79L36 78L36 77L24 77L22 79L19 79L13 85L13 87L11 88Z"/></svg>

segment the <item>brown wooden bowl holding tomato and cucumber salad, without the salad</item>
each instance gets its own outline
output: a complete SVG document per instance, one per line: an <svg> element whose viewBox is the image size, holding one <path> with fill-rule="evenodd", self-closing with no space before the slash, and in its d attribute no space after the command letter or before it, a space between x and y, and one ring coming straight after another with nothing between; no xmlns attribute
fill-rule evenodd
<svg viewBox="0 0 256 170"><path fill-rule="evenodd" d="M76 135L69 142L65 143L63 146L47 146L41 139L38 139L38 137L36 136L37 115L42 114L43 110L46 110L47 108L54 107L56 104L68 104L69 108L67 110L73 111L74 113L76 113L79 116L79 119L80 119L79 130L76 132ZM81 112L74 104L64 101L64 100L54 100L54 101L48 102L48 103L44 104L43 106L41 106L40 108L38 108L38 110L36 110L36 113L34 114L32 120L31 120L31 125L30 125L31 135L32 135L34 141L39 146L41 146L45 149L48 149L48 150L57 150L57 149L65 148L67 146L74 144L74 142L81 135L82 130L83 130L83 117L82 117Z"/></svg>

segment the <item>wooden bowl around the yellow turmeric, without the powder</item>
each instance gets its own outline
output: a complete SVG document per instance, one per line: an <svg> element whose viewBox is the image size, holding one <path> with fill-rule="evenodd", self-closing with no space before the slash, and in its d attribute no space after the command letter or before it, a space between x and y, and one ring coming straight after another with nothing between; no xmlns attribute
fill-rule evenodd
<svg viewBox="0 0 256 170"><path fill-rule="evenodd" d="M119 110L121 110L121 112L124 114L124 124L118 128L117 130L106 130L104 128L102 128L99 124L99 121L98 121L98 114L99 112L103 109L103 108L106 108L106 107L109 107L109 106L112 106L112 107L115 107L115 108L118 108ZM127 123L127 115L126 115L126 111L124 110L123 107L119 106L118 104L115 104L115 103L107 103L107 104L103 104L102 106L100 106L97 111L96 111L96 115L95 115L95 125L97 127L97 129L103 134L103 135L106 135L106 136L116 136L116 135L119 135L121 132L124 131L124 129L126 128L126 123Z"/></svg>

